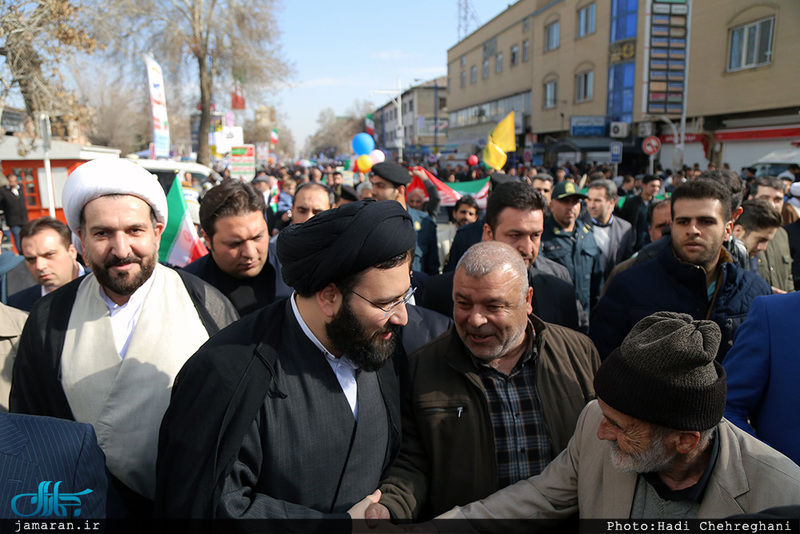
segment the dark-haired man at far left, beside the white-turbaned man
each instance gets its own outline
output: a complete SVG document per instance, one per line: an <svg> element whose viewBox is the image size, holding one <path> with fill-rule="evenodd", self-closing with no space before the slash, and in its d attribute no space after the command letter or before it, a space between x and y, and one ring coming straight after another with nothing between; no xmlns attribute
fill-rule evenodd
<svg viewBox="0 0 800 534"><path fill-rule="evenodd" d="M39 282L8 297L8 305L31 311L34 303L59 287L83 276L78 251L72 244L69 227L51 217L34 219L19 233L25 266Z"/></svg>

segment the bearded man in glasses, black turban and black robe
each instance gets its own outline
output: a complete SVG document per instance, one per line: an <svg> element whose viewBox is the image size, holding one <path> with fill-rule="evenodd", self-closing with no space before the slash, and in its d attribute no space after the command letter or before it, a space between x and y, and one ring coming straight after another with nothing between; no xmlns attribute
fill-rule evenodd
<svg viewBox="0 0 800 534"><path fill-rule="evenodd" d="M408 320L414 244L406 210L371 199L280 233L292 296L220 332L176 380L158 515L349 521L377 501L400 446L384 364Z"/></svg>

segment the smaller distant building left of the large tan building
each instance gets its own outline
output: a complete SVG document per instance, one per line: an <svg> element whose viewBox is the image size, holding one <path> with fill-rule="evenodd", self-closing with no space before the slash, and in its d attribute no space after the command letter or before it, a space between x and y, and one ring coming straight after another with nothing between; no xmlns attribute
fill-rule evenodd
<svg viewBox="0 0 800 534"><path fill-rule="evenodd" d="M447 135L447 78L441 76L409 87L373 113L378 147L406 161L438 153Z"/></svg>

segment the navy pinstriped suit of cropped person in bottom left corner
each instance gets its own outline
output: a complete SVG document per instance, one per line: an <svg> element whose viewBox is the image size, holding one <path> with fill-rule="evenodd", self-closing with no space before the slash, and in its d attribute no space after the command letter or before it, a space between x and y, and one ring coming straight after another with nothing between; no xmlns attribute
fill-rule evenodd
<svg viewBox="0 0 800 534"><path fill-rule="evenodd" d="M39 495L56 491L61 502L54 504L66 510L64 519L102 519L112 512L105 455L89 424L0 413L0 480L2 519L58 519L45 513Z"/></svg>

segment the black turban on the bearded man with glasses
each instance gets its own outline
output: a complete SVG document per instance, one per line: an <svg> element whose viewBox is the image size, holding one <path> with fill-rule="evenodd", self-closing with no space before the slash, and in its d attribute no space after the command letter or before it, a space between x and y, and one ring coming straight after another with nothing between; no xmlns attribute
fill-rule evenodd
<svg viewBox="0 0 800 534"><path fill-rule="evenodd" d="M283 281L301 295L364 271L416 246L411 216L398 202L372 199L324 211L278 236Z"/></svg>

